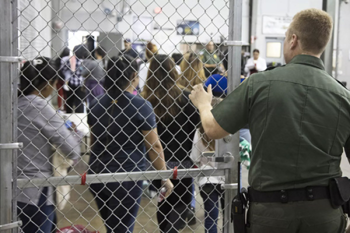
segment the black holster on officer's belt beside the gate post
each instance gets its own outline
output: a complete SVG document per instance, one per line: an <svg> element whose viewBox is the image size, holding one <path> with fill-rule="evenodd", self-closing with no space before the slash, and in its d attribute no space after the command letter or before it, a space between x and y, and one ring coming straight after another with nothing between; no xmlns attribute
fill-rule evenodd
<svg viewBox="0 0 350 233"><path fill-rule="evenodd" d="M233 197L231 203L231 221L235 233L245 233L245 209L248 204L248 194L244 187Z"/></svg>

